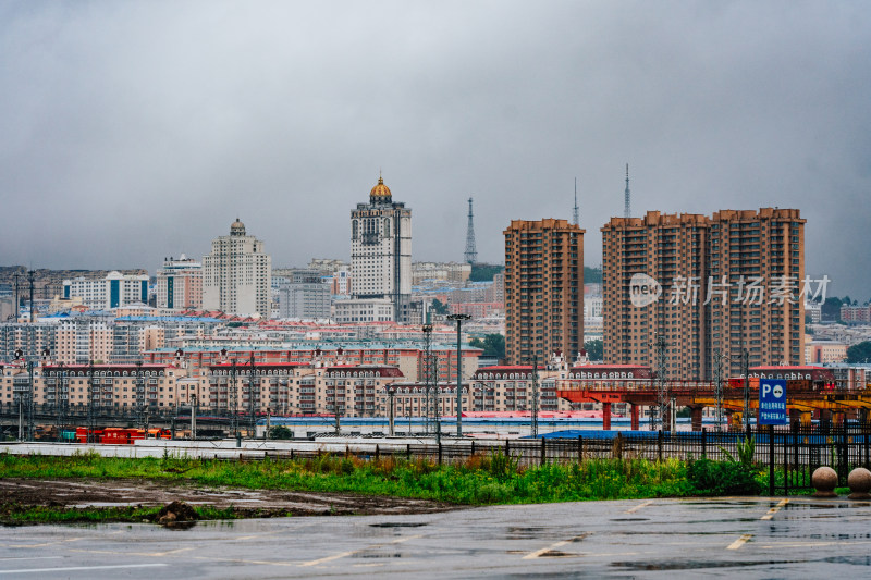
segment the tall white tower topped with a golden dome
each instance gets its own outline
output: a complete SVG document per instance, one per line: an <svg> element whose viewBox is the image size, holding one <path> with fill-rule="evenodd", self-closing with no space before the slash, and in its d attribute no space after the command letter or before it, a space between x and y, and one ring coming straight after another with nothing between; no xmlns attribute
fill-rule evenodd
<svg viewBox="0 0 871 580"><path fill-rule="evenodd" d="M412 297L412 210L393 201L384 180L369 192L368 203L357 203L351 211L351 277L353 301L372 300L390 304L392 320L408 321ZM341 304L341 303L340 303ZM339 306L339 305L336 305ZM348 305L352 306L352 305ZM366 308L356 305L357 318L366 318ZM363 305L365 306L365 305ZM348 310L348 311L352 311ZM384 318L384 308L371 308ZM356 320L369 322L377 320Z"/></svg>

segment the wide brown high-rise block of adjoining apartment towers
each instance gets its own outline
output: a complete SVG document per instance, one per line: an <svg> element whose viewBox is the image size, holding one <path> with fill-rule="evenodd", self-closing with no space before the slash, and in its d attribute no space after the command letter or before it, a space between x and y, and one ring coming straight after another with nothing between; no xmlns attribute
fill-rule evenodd
<svg viewBox="0 0 871 580"><path fill-rule="evenodd" d="M801 365L803 224L763 208L612 218L602 227L604 360L704 379Z"/></svg>

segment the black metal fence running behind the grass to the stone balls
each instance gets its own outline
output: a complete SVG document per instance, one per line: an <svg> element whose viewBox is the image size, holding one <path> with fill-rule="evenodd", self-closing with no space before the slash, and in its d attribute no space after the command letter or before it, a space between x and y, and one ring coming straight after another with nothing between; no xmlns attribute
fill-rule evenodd
<svg viewBox="0 0 871 580"><path fill-rule="evenodd" d="M295 452L310 457L323 449ZM335 453L335 451L333 451ZM341 452L340 452L341 453ZM522 467L589 459L747 460L769 470L771 495L811 490L811 474L822 466L838 476L838 486L856 467L871 468L871 423L753 427L745 431L599 432L575 439L505 441L450 440L436 444L370 444L345 446L346 455L365 459L388 456L437 464L456 464L475 455L500 453ZM281 456L286 456L282 453Z"/></svg>

